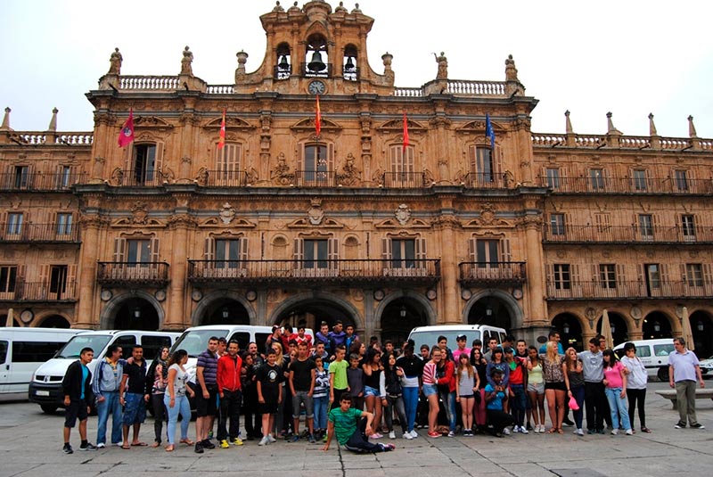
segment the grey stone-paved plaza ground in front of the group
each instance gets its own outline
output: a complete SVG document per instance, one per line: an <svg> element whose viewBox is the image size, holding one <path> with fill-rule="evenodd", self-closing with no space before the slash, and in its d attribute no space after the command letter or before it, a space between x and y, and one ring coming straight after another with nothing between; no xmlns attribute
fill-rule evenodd
<svg viewBox="0 0 713 477"><path fill-rule="evenodd" d="M676 430L676 411L668 400L653 392L667 388L659 382L649 384L647 425L653 430L651 434L578 438L571 434L571 428L565 428L564 435L530 433L504 439L458 436L434 440L424 437L422 430L419 439L393 440L397 446L394 452L364 456L337 450L335 442L328 452L323 452L321 445L303 440L281 440L266 447L258 447L258 442L252 440L242 447L216 448L202 455L185 446L176 447L170 454L163 448L110 447L80 452L76 429L72 432L75 452L65 455L61 452L60 412L44 415L37 405L27 402L3 403L0 476L195 477L222 471L244 471L250 477L709 475L713 468L713 402L697 401L699 421L708 429ZM638 430L638 418L635 423ZM152 434L149 418L142 427L142 440L152 442ZM193 435L192 423L189 436ZM92 442L96 439L95 416L89 418L89 438Z"/></svg>

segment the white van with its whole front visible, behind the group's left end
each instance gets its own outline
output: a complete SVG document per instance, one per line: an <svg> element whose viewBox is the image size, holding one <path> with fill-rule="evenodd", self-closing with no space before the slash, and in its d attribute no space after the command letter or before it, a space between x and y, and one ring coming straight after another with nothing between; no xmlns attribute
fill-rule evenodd
<svg viewBox="0 0 713 477"><path fill-rule="evenodd" d="M74 336L54 358L37 368L29 383L29 401L39 404L45 413L53 413L57 407L64 406L61 396L61 381L70 364L79 358L83 348L94 350L94 359L87 366L94 374L98 359L104 358L106 350L112 344L118 344L123 350L123 358L131 355L135 344L143 346L143 357L149 365L164 346L173 345L180 333L148 332L135 330L99 330L86 331Z"/></svg>

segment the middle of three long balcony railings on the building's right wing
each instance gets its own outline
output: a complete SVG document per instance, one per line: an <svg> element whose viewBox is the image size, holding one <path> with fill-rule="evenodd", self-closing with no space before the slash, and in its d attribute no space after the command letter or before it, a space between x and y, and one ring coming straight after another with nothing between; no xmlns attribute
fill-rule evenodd
<svg viewBox="0 0 713 477"><path fill-rule="evenodd" d="M713 243L704 226L544 226L544 243Z"/></svg>

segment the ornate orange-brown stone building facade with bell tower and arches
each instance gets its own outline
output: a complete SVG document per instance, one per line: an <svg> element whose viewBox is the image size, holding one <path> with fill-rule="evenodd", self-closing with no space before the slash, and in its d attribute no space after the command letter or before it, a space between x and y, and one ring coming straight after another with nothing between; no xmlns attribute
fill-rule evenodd
<svg viewBox="0 0 713 477"><path fill-rule="evenodd" d="M340 319L397 340L554 326L581 344L605 309L622 341L680 334L685 307L710 350L713 142L693 119L687 138L652 118L650 136L624 136L611 115L583 136L568 111L564 135L537 134L512 56L503 81L451 80L441 53L432 81L398 87L392 55L367 62L358 8L278 3L259 20L265 57L248 72L237 53L233 84L195 76L188 46L177 76L121 75L117 49L87 95L93 131L53 117L17 132L5 110L0 313L169 330Z"/></svg>

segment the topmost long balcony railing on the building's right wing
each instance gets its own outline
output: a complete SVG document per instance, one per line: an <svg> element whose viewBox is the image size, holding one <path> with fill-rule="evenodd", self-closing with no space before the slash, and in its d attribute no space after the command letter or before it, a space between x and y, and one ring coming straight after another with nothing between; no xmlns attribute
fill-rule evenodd
<svg viewBox="0 0 713 477"><path fill-rule="evenodd" d="M711 195L713 179L636 177L537 177L553 193Z"/></svg>

